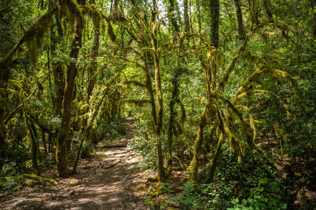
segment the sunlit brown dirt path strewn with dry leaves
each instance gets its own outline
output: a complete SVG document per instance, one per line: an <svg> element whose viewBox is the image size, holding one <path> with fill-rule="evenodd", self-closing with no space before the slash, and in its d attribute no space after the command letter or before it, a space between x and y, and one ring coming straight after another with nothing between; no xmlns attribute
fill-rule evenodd
<svg viewBox="0 0 316 210"><path fill-rule="evenodd" d="M62 179L56 168L45 171L42 177L55 179L53 185L24 188L0 198L0 209L147 209L143 196L135 191L139 183L146 182L142 171L135 167L139 157L124 146L133 140L134 123L132 118L125 121L126 135L111 144L118 147L96 149L92 158L81 160L76 175Z"/></svg>

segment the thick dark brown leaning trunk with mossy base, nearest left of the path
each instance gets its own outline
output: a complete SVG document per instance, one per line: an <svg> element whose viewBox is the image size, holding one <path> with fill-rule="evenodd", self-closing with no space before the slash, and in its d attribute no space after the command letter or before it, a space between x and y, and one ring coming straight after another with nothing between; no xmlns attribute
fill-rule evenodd
<svg viewBox="0 0 316 210"><path fill-rule="evenodd" d="M84 0L78 0L78 4L85 5ZM84 24L82 19L78 16L76 17L75 22L75 32L72 39L70 58L77 59L79 54L79 49L82 46L82 31ZM63 100L63 113L60 124L60 129L57 136L56 142L56 165L59 176L62 178L69 177L69 169L66 163L66 142L67 136L70 129L70 118L71 118L71 102L72 95L75 85L75 78L77 75L76 63L71 62L67 67L67 78L66 78L66 87L64 91L64 100Z"/></svg>

